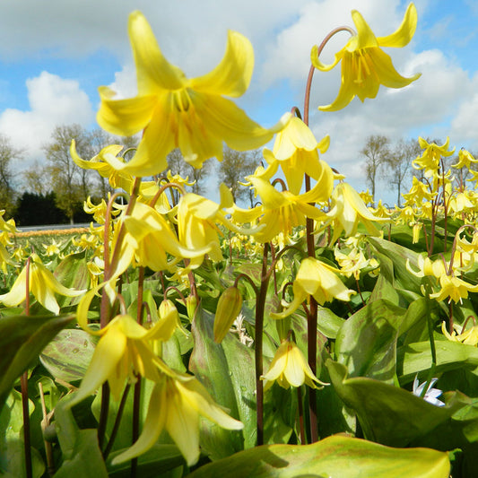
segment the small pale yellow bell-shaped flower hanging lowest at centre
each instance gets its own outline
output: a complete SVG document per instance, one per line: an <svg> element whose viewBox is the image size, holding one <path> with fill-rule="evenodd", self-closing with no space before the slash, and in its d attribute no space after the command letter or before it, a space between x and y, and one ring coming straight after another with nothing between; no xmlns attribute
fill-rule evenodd
<svg viewBox="0 0 478 478"><path fill-rule="evenodd" d="M269 370L261 379L265 380L264 390L272 387L275 381L286 389L291 386L300 387L304 383L312 388L318 388L316 384L328 385L314 375L304 354L291 340L284 340L281 343L275 352Z"/></svg>

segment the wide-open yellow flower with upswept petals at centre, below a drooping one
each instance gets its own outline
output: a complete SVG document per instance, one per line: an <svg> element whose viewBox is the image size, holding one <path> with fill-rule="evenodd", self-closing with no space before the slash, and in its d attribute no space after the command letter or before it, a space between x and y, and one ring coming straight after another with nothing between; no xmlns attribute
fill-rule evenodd
<svg viewBox="0 0 478 478"><path fill-rule="evenodd" d="M263 178L248 176L262 204L250 210L235 206L231 209L233 219L255 222L260 218L258 225L263 229L254 233L254 239L262 243L273 240L281 232L291 234L294 227L305 225L308 217L315 221L326 221L326 213L311 203L326 202L334 187L334 173L324 161L319 162L322 170L316 186L299 196L289 191L280 192Z"/></svg>

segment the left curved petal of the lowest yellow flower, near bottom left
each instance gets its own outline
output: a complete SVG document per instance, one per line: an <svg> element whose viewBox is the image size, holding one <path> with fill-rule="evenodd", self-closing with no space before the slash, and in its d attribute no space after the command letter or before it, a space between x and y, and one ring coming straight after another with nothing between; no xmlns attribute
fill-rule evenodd
<svg viewBox="0 0 478 478"><path fill-rule="evenodd" d="M166 415L168 408L166 406L166 387L164 382L156 384L152 389L150 404L148 406L148 413L144 420L143 432L135 441L131 448L128 448L124 453L115 456L111 460L111 465L117 465L140 456L154 445L159 439L161 430L164 428L166 422Z"/></svg>

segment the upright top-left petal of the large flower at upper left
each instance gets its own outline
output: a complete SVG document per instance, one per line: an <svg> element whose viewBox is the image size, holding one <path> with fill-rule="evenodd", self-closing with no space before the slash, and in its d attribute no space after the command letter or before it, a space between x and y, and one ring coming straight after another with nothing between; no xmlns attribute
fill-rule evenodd
<svg viewBox="0 0 478 478"><path fill-rule="evenodd" d="M185 85L184 73L162 56L150 24L143 13L129 15L129 39L135 57L138 93L155 94L159 90L178 90Z"/></svg>

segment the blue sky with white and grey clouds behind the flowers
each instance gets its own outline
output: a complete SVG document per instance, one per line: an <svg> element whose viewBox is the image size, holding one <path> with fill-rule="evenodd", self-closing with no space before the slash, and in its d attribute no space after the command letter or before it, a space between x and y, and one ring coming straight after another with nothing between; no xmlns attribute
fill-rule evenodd
<svg viewBox="0 0 478 478"><path fill-rule="evenodd" d="M359 10L377 36L400 25L400 0L22 0L0 3L0 134L25 150L15 170L44 161L41 146L55 126L95 127L106 84L135 95L135 68L127 17L141 10L161 50L187 76L207 73L222 58L227 30L251 40L256 56L248 92L239 106L272 126L292 106L303 109L311 47L336 26L353 26ZM392 139L450 137L457 148L478 151L478 4L475 0L416 0L418 27L405 48L387 48L398 72L422 77L402 90L381 88L375 100L354 99L339 112L317 111L337 94L340 72L316 72L310 126L331 146L322 156L364 189L360 150L369 135ZM329 43L322 61L342 48ZM215 161L215 160L213 160ZM378 196L393 202L380 183Z"/></svg>

